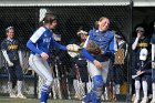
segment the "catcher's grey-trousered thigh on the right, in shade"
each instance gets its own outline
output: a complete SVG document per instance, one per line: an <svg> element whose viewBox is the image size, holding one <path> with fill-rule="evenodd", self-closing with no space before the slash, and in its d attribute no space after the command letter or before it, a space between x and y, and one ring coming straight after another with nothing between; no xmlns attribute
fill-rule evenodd
<svg viewBox="0 0 155 103"><path fill-rule="evenodd" d="M102 62L102 64L103 64L102 76L103 76L103 81L106 82L108 68L110 68L110 61Z"/></svg>

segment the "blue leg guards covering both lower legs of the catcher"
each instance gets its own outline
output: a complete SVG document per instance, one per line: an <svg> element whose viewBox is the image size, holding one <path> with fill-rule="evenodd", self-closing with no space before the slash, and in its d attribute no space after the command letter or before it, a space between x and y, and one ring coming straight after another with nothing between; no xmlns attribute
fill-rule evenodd
<svg viewBox="0 0 155 103"><path fill-rule="evenodd" d="M84 102L87 103L92 101L92 103L101 103L101 95L103 94L103 79L102 75L93 76L93 89L91 92L84 97Z"/></svg>

